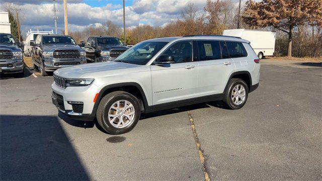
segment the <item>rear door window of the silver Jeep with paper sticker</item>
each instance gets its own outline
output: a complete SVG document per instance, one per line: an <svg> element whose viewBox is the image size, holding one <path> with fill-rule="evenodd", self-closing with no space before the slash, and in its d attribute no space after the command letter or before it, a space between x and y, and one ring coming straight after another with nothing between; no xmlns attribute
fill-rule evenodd
<svg viewBox="0 0 322 181"><path fill-rule="evenodd" d="M215 60L221 58L220 46L218 41L198 41L199 59Z"/></svg>

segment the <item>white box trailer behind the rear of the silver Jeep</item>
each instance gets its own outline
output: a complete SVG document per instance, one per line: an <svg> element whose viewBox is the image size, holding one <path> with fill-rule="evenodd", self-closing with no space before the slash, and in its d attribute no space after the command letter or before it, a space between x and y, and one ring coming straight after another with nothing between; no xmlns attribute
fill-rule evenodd
<svg viewBox="0 0 322 181"><path fill-rule="evenodd" d="M275 37L276 33L264 30L246 30L246 29L232 29L224 30L225 36L235 36L251 42L257 56L261 59L264 56L273 56L275 51Z"/></svg>

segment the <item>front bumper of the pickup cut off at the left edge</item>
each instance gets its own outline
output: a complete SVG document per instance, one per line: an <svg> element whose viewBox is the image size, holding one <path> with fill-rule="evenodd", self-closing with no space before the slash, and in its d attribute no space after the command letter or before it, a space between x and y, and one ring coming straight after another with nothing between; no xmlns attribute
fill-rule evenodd
<svg viewBox="0 0 322 181"><path fill-rule="evenodd" d="M0 60L1 73L19 73L24 71L23 59Z"/></svg>

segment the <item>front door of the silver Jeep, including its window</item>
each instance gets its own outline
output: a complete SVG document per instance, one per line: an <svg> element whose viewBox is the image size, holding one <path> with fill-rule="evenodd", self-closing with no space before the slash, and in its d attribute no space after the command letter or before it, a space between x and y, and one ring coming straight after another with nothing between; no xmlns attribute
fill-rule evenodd
<svg viewBox="0 0 322 181"><path fill-rule="evenodd" d="M161 55L173 56L176 63L151 65L153 105L195 97L198 62L192 49L192 41L174 43Z"/></svg>

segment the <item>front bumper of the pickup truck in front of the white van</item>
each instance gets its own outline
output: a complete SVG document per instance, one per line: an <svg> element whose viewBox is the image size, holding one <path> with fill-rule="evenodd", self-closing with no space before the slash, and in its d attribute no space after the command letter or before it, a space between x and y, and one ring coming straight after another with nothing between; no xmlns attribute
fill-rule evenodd
<svg viewBox="0 0 322 181"><path fill-rule="evenodd" d="M56 59L56 58L44 58L44 66L46 71L54 71L58 68L68 67L72 65L79 65L86 63L86 57L77 59Z"/></svg>

